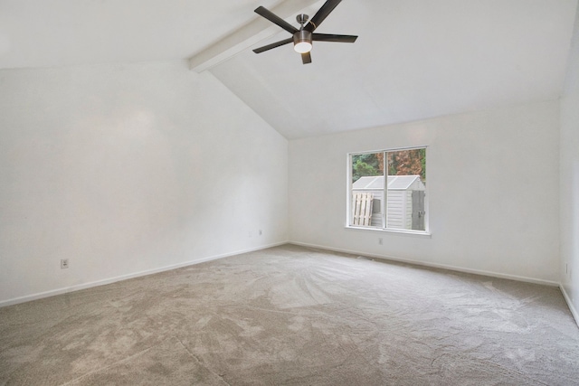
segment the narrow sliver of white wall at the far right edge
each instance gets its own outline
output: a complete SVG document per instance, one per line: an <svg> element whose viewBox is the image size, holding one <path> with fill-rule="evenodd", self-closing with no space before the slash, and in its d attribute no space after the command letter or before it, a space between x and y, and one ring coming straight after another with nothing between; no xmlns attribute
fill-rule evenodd
<svg viewBox="0 0 579 386"><path fill-rule="evenodd" d="M561 99L561 281L579 323L579 9Z"/></svg>

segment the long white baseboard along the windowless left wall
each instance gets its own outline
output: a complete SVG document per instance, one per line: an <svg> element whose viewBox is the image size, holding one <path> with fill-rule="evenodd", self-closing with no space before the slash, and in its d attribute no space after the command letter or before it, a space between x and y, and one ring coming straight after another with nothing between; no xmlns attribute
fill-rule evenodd
<svg viewBox="0 0 579 386"><path fill-rule="evenodd" d="M209 257L205 257L202 259L195 259L195 260L191 260L191 261L186 261L184 263L179 263L179 264L174 264L174 265L170 265L170 266L165 266L165 267L161 267L161 268L153 268L153 269L147 269L144 271L140 271L140 272L135 272L135 273L130 273L127 275L121 275L118 277L114 277L114 278L105 278L102 280L97 280L97 281L92 281L90 283L83 283L83 284L79 284L76 286L71 286L71 287L62 287L62 288L58 288L58 289L52 289L50 291L45 291L45 292L40 292L37 294L32 294L32 295L26 295L24 297L14 297L12 299L8 299L8 300L3 300L0 301L0 307L3 306L12 306L12 305L16 305L19 303L24 303L24 302L29 302L31 300L37 300L37 299L42 299L44 297L53 297L56 295L62 295L62 294L66 294L68 292L72 292L72 291L78 291L81 289L86 289L86 288L90 288L90 287L99 287L99 286L104 286L107 284L111 284L111 283L115 283L117 281L121 281L121 280L127 280L129 278L139 278L142 276L147 276L147 275L153 275L159 272L165 272L167 270L171 270L171 269L176 269L176 268L183 268L183 267L187 267L187 266L192 266L195 264L200 264L200 263L204 263L206 261L212 261L212 260L216 260L216 259L223 259L223 258L228 258L230 256L235 256L235 255L241 255L242 253L247 253L247 252L253 252L255 250L261 250L261 249L268 249L268 248L272 248L272 247L278 247L280 245L284 245L287 244L287 241L282 241L282 242L277 242L277 243L273 243L273 244L268 244L268 245L262 245L261 247L256 247L256 248L250 248L250 249L242 249L242 250L236 250L234 252L228 252L228 253L223 253L221 255L214 255L214 256L209 256Z"/></svg>

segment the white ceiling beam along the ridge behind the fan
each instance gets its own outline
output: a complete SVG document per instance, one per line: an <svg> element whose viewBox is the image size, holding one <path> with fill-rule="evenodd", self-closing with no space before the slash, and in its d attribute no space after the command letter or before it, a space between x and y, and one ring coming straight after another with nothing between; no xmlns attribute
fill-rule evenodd
<svg viewBox="0 0 579 386"><path fill-rule="evenodd" d="M324 0L285 0L272 8L271 12L279 15L282 19L287 19L296 14L315 13L323 2ZM292 22L295 21L292 20L289 23ZM252 22L243 25L219 42L215 42L191 57L189 68L197 72L209 70L233 55L248 50L252 45L271 38L280 31L280 27L256 14Z"/></svg>

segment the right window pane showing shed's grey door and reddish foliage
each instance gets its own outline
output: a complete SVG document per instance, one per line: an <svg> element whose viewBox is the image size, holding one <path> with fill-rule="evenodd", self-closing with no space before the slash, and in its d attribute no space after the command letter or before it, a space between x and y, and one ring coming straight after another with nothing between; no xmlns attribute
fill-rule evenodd
<svg viewBox="0 0 579 386"><path fill-rule="evenodd" d="M387 152L386 228L425 231L426 149Z"/></svg>

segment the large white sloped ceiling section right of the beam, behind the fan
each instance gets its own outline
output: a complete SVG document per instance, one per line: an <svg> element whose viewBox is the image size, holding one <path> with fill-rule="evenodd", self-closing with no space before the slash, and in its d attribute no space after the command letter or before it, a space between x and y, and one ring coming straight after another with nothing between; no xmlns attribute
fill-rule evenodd
<svg viewBox="0 0 579 386"><path fill-rule="evenodd" d="M556 99L575 5L345 0L318 32L356 43L315 42L308 65L290 45L245 51L211 71L289 138Z"/></svg>

